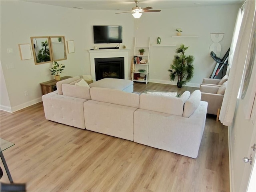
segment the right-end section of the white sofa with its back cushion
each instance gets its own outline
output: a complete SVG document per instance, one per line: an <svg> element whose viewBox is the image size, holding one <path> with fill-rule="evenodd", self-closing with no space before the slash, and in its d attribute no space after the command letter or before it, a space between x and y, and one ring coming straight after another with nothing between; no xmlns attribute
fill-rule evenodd
<svg viewBox="0 0 256 192"><path fill-rule="evenodd" d="M140 108L134 112L134 142L196 158L204 132L207 102L199 101L187 118L182 116L181 98L150 97L152 95L141 94Z"/></svg>

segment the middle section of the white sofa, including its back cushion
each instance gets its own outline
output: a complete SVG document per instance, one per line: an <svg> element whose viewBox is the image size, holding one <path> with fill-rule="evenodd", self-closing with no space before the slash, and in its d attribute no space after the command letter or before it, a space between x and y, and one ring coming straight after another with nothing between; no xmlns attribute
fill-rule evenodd
<svg viewBox="0 0 256 192"><path fill-rule="evenodd" d="M90 94L92 100L84 102L86 129L132 141L140 96L107 88L90 88Z"/></svg>

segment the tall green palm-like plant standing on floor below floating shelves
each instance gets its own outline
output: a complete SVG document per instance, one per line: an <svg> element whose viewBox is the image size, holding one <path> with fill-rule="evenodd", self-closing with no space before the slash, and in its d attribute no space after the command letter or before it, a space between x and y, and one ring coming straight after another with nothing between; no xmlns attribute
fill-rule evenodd
<svg viewBox="0 0 256 192"><path fill-rule="evenodd" d="M172 61L173 64L170 65L168 71L170 72L170 80L174 81L175 78L178 79L177 86L181 88L186 85L187 82L190 82L192 77L194 76L194 56L185 55L185 51L188 47L185 47L184 44L180 45L180 48L175 50L176 55L174 55L174 59Z"/></svg>

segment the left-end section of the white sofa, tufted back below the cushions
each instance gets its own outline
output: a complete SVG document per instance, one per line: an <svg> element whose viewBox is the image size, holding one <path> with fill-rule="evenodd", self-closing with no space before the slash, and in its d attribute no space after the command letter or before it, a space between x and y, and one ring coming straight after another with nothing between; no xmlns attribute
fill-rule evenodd
<svg viewBox="0 0 256 192"><path fill-rule="evenodd" d="M83 103L86 99L63 96L57 91L42 96L47 120L85 129Z"/></svg>

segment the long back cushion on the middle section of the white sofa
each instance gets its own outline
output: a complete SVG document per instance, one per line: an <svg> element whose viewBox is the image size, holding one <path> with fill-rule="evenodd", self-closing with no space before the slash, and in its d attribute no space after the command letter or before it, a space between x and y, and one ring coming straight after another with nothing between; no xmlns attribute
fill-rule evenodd
<svg viewBox="0 0 256 192"><path fill-rule="evenodd" d="M92 87L90 88L90 95L94 101L139 108L140 96L135 93L127 93L121 90L108 88Z"/></svg>

